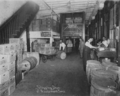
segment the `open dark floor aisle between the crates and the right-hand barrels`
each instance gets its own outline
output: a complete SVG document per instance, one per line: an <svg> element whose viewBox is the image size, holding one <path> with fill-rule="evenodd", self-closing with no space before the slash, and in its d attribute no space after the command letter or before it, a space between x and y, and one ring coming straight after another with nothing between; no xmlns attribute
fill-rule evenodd
<svg viewBox="0 0 120 96"><path fill-rule="evenodd" d="M72 54L65 60L41 62L11 96L89 96L82 60Z"/></svg>

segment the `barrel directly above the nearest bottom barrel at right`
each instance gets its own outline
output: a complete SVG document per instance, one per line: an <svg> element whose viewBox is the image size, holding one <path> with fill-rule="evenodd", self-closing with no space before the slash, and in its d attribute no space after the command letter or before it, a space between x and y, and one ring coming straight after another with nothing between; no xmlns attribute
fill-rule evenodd
<svg viewBox="0 0 120 96"><path fill-rule="evenodd" d="M112 71L108 71L105 69L96 69L96 70L92 70L91 71L91 80L92 79L101 79L101 78L106 78L106 79L112 79L112 80L117 80L117 74L112 72Z"/></svg>

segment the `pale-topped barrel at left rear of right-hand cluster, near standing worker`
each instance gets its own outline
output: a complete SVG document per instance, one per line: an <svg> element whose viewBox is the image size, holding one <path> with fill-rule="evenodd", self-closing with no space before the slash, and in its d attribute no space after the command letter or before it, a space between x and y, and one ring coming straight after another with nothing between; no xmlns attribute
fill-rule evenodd
<svg viewBox="0 0 120 96"><path fill-rule="evenodd" d="M87 80L90 83L90 74L91 70L96 70L96 69L102 69L102 65L99 61L97 60L88 60L87 65L86 65L86 75L87 75Z"/></svg>

